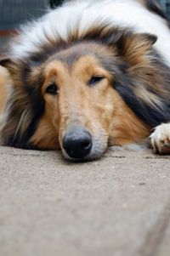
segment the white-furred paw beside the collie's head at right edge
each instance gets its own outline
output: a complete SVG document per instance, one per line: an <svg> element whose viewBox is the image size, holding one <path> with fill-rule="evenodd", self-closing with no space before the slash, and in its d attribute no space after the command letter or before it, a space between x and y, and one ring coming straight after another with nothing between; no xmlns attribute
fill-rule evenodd
<svg viewBox="0 0 170 256"><path fill-rule="evenodd" d="M170 154L170 123L162 123L150 135L150 143L155 153Z"/></svg>

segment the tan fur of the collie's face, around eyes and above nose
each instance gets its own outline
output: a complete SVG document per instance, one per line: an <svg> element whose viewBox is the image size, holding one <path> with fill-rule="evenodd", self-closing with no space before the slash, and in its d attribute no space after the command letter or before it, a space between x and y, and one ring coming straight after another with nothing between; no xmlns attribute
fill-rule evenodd
<svg viewBox="0 0 170 256"><path fill-rule="evenodd" d="M62 148L65 131L75 124L82 124L94 137L104 130L105 143L109 139L111 145L144 141L149 135L150 128L139 121L111 87L110 73L94 57L82 56L71 66L53 60L46 65L44 76L45 111L31 138L34 145ZM88 81L93 76L105 79L90 88ZM58 86L58 94L45 94L53 81Z"/></svg>

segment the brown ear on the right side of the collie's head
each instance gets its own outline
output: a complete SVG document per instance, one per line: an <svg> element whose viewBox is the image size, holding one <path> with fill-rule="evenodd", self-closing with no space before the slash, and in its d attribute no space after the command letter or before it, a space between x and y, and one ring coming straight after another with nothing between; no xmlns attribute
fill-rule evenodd
<svg viewBox="0 0 170 256"><path fill-rule="evenodd" d="M135 65L149 53L156 40L157 37L155 35L147 33L133 34L123 32L116 41L116 48L119 55L126 58L130 64Z"/></svg>

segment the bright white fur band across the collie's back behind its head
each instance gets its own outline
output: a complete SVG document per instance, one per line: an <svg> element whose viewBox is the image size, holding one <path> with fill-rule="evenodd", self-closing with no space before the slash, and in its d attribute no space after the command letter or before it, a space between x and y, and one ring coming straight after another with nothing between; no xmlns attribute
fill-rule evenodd
<svg viewBox="0 0 170 256"><path fill-rule="evenodd" d="M90 27L102 22L155 34L158 40L154 47L167 65L170 65L170 31L166 21L145 9L136 0L79 0L65 3L58 9L48 11L41 19L24 26L18 41L13 43L10 54L21 59L28 57L37 53L44 43L48 43L48 38L57 40L61 37L67 41L71 32L78 29L81 36Z"/></svg>

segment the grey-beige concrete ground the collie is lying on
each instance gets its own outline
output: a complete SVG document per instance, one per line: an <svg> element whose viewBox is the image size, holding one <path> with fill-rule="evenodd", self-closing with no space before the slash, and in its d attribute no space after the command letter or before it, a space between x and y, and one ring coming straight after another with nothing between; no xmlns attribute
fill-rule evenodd
<svg viewBox="0 0 170 256"><path fill-rule="evenodd" d="M169 256L170 156L0 148L1 256Z"/></svg>

